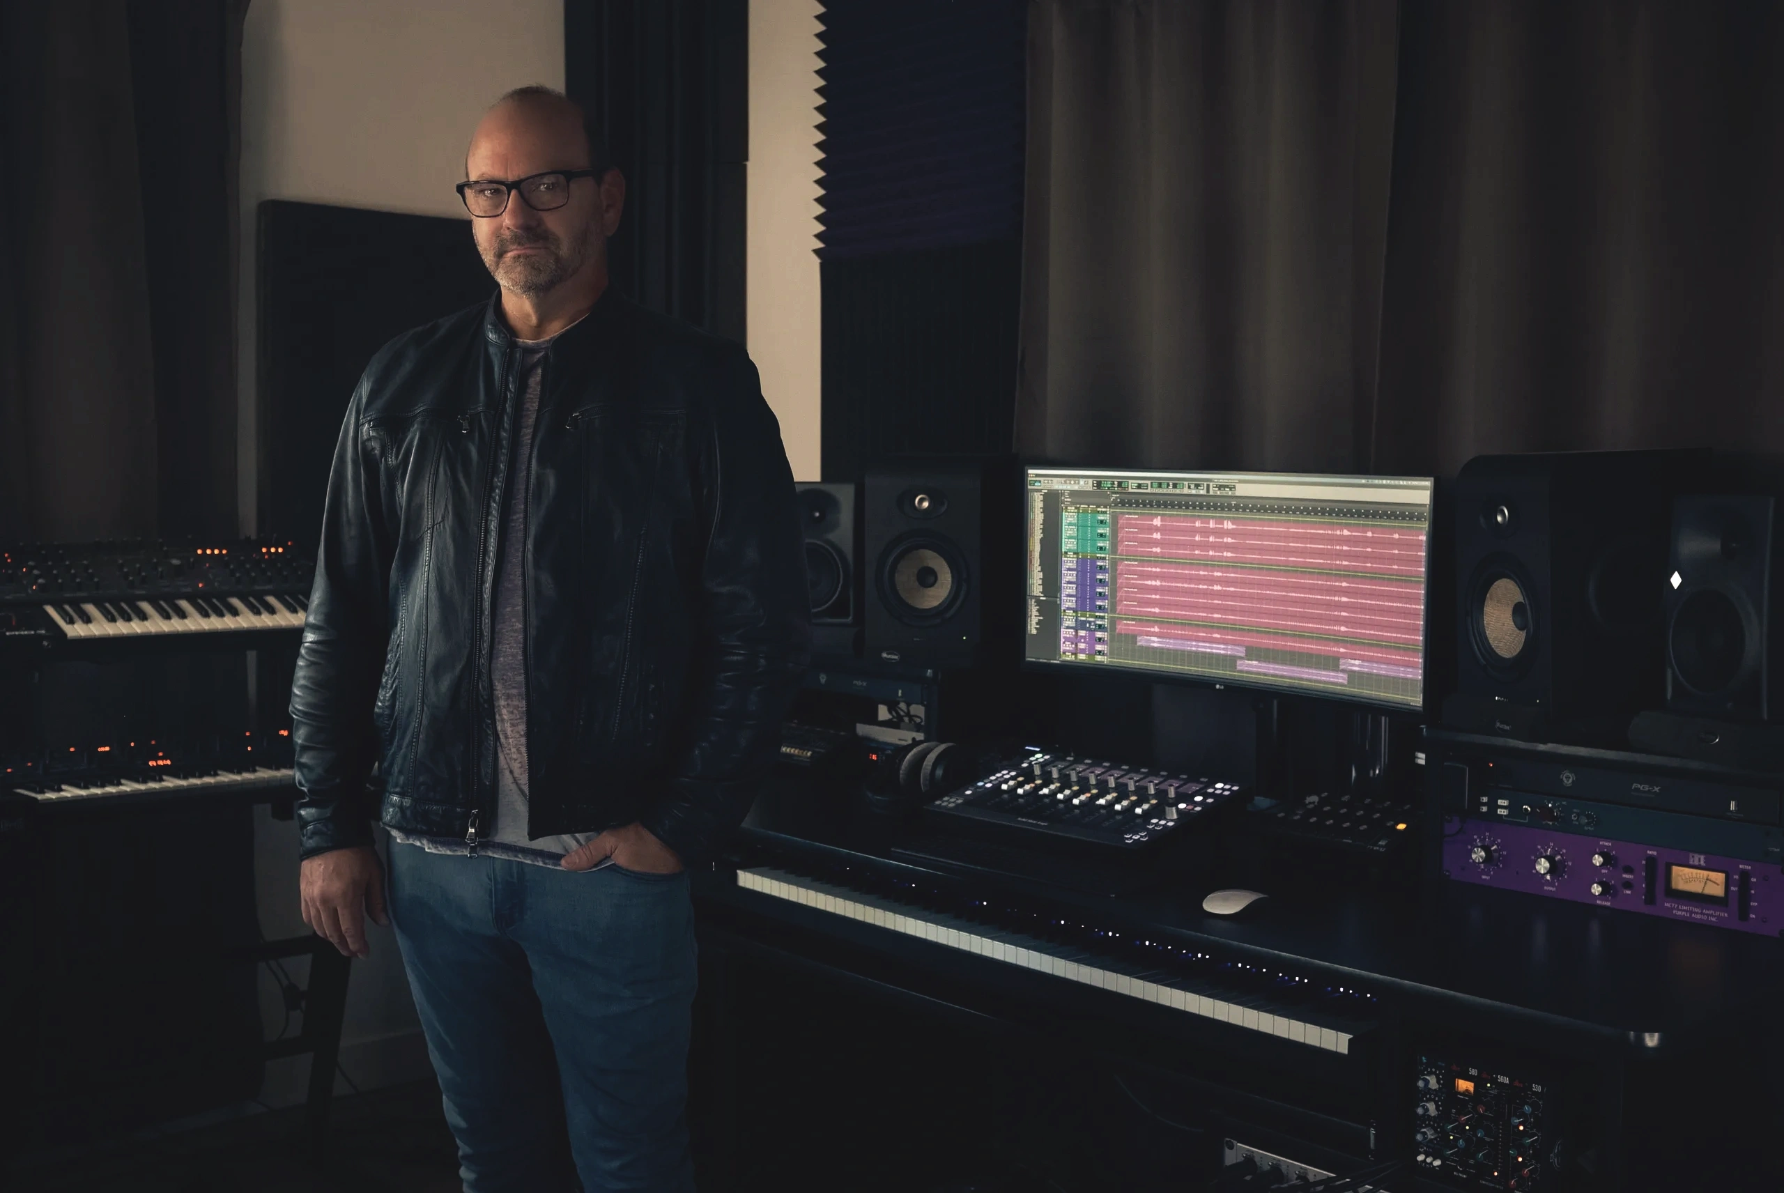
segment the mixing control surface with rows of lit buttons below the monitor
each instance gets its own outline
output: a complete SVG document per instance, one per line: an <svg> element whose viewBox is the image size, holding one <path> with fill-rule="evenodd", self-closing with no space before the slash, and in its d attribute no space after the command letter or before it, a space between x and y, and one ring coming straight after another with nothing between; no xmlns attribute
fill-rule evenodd
<svg viewBox="0 0 1784 1193"><path fill-rule="evenodd" d="M1031 751L942 795L926 811L956 824L1144 849L1236 804L1240 794L1240 786L1217 779Z"/></svg>

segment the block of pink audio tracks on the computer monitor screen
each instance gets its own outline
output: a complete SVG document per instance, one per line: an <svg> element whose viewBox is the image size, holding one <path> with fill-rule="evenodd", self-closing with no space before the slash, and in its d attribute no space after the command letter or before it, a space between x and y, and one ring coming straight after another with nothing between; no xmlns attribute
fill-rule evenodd
<svg viewBox="0 0 1784 1193"><path fill-rule="evenodd" d="M1192 651L1313 651L1377 674L1418 663L1424 587L1402 578L1424 576L1420 531L1122 515L1117 537L1124 556L1172 560L1117 564L1117 633L1181 642ZM1185 621L1195 624L1174 624Z"/></svg>

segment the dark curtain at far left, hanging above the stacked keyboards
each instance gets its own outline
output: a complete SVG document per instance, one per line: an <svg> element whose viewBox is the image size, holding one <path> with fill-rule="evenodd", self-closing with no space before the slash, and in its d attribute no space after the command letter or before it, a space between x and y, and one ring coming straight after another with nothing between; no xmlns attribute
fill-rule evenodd
<svg viewBox="0 0 1784 1193"><path fill-rule="evenodd" d="M235 524L244 11L0 5L0 539Z"/></svg>

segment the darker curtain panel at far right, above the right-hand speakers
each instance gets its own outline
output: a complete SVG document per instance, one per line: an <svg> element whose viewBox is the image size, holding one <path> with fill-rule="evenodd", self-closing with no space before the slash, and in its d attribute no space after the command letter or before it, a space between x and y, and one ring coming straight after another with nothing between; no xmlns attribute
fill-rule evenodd
<svg viewBox="0 0 1784 1193"><path fill-rule="evenodd" d="M1375 451L1784 448L1784 7L1408 4Z"/></svg>

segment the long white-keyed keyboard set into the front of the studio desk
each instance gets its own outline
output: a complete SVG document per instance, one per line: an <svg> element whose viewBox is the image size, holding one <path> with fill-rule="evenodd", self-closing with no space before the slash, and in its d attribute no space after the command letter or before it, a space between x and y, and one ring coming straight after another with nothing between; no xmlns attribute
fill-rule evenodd
<svg viewBox="0 0 1784 1193"><path fill-rule="evenodd" d="M869 929L928 942L1169 1011L1349 1056L1372 1031L1375 999L1304 974L1218 959L1040 906L976 897L867 867L747 867L737 884Z"/></svg>

